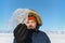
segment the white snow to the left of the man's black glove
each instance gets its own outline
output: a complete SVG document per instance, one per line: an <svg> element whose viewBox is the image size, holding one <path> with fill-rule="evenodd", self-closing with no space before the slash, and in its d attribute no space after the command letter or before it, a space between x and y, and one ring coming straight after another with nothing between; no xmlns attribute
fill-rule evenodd
<svg viewBox="0 0 65 43"><path fill-rule="evenodd" d="M0 43L13 43L13 39L12 33L0 33Z"/></svg>

